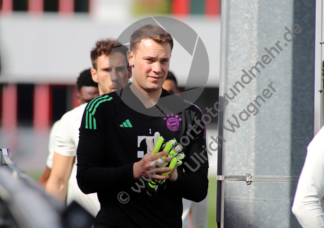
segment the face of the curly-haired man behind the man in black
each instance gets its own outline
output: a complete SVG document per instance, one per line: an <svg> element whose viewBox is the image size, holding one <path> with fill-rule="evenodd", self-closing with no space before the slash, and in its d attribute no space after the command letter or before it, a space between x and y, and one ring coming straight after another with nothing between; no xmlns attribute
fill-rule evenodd
<svg viewBox="0 0 324 228"><path fill-rule="evenodd" d="M120 90L132 77L126 57L121 52L112 53L110 57L100 55L97 69L92 68L91 74L93 81L98 83L100 95Z"/></svg>

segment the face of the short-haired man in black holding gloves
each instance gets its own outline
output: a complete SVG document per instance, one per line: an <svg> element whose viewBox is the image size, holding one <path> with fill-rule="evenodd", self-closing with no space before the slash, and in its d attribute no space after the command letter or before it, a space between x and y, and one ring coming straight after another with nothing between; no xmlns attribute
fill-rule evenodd
<svg viewBox="0 0 324 228"><path fill-rule="evenodd" d="M159 44L149 38L141 40L136 53L130 53L129 64L133 68L133 84L139 90L160 90L169 71L171 46Z"/></svg>

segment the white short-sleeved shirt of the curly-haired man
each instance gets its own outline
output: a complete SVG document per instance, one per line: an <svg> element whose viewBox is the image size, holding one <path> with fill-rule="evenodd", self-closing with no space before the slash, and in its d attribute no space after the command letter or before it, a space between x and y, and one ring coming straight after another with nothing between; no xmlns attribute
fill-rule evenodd
<svg viewBox="0 0 324 228"><path fill-rule="evenodd" d="M75 107L70 112L66 112L60 119L60 127L55 138L55 152L67 157L77 155L77 144L79 143L79 127L86 103ZM71 177L68 180L67 203L77 201L93 216L97 216L100 209L97 193L84 194L77 186L77 165L76 159L71 171Z"/></svg>

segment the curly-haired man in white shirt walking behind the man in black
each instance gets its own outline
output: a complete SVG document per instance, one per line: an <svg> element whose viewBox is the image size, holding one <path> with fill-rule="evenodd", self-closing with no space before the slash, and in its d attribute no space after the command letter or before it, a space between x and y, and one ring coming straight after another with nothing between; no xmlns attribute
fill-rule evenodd
<svg viewBox="0 0 324 228"><path fill-rule="evenodd" d="M98 83L99 95L123 88L128 83L128 79L132 77L131 68L127 62L128 49L126 47L112 53L114 58L119 61L114 64L110 62L110 53L114 44L115 40L99 40L90 52L93 66L91 75L93 81ZM96 216L100 209L97 194L82 193L76 180L75 155L79 142L79 127L86 104L67 112L60 120L55 140L53 169L46 185L46 191L61 201L64 201L66 197L68 204L73 200L77 201L93 216Z"/></svg>

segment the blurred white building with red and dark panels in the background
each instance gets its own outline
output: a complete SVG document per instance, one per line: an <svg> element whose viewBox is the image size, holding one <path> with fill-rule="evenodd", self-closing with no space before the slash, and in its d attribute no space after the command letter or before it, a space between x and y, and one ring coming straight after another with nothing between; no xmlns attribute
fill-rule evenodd
<svg viewBox="0 0 324 228"><path fill-rule="evenodd" d="M46 156L45 139L51 125L77 106L75 81L81 71L91 67L90 49L95 41L117 38L147 16L173 17L197 32L210 60L210 77L197 103L204 111L218 99L221 0L0 2L0 147L11 148L13 154L31 150L17 137L38 132L43 137L38 150ZM192 56L173 49L170 69L182 89L191 61ZM10 135L21 127L24 131ZM28 147L36 149L39 141L33 136L27 140Z"/></svg>

